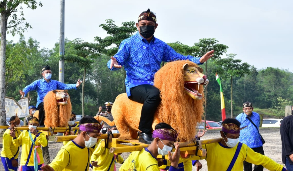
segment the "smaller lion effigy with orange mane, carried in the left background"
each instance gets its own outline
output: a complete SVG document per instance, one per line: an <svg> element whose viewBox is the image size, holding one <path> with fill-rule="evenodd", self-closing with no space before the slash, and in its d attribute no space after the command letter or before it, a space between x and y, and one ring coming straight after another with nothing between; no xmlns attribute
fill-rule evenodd
<svg viewBox="0 0 293 171"><path fill-rule="evenodd" d="M71 102L67 90L52 90L44 97L45 127L67 127Z"/></svg>

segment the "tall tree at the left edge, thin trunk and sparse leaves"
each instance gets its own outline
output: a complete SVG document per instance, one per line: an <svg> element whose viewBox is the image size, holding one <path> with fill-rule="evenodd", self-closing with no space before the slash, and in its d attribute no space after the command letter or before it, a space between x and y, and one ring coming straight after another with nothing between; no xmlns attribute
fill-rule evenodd
<svg viewBox="0 0 293 171"><path fill-rule="evenodd" d="M25 22L23 17L23 8L20 6L25 4L30 9L36 9L37 5L42 6L41 2L35 0L2 0L0 2L0 30L1 30L1 45L0 45L0 125L6 124L6 111L5 111L5 60L6 60L6 31L11 29L11 34L22 35L28 28L32 29L28 22ZM21 17L17 16L18 11ZM12 19L8 23L8 18ZM0 130L0 135L3 134L3 129Z"/></svg>

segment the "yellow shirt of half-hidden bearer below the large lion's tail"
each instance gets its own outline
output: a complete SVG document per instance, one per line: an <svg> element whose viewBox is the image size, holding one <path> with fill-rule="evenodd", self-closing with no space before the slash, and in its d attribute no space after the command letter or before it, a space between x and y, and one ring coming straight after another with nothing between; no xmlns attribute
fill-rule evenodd
<svg viewBox="0 0 293 171"><path fill-rule="evenodd" d="M102 147L102 141L98 144L98 147L93 152L91 156L92 161L98 161L99 167L93 167L93 170L114 170L114 165L116 160L118 163L123 162L123 158L120 155L115 155L114 153L110 153L110 149ZM110 169L109 169L110 167Z"/></svg>

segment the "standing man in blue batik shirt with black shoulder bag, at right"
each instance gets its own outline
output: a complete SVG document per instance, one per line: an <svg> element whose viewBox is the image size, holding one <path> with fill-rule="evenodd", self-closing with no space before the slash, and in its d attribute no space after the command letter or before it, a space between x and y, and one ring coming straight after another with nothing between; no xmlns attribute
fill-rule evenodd
<svg viewBox="0 0 293 171"><path fill-rule="evenodd" d="M255 128L253 123L251 123L251 121L249 121L248 118L250 118L251 121L253 121L257 128ZM251 102L243 103L243 113L236 116L236 119L241 123L241 128L247 126L246 128L240 131L239 142L246 144L248 147L253 149L253 151L265 155L265 152L263 151L263 142L260 138L260 134L258 133L260 117L258 113L253 112L253 106ZM244 171L252 170L252 164L246 161L243 161L243 167ZM262 171L263 166L254 165L254 170Z"/></svg>

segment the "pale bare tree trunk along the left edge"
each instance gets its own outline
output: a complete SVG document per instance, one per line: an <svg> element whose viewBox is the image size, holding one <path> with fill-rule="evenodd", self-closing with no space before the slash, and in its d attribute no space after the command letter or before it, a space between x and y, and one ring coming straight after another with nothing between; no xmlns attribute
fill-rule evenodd
<svg viewBox="0 0 293 171"><path fill-rule="evenodd" d="M6 111L5 111L5 59L6 59L6 29L7 17L6 11L1 13L0 30L1 30L1 44L0 44L0 125L6 125ZM4 133L4 129L0 129L0 137Z"/></svg>

